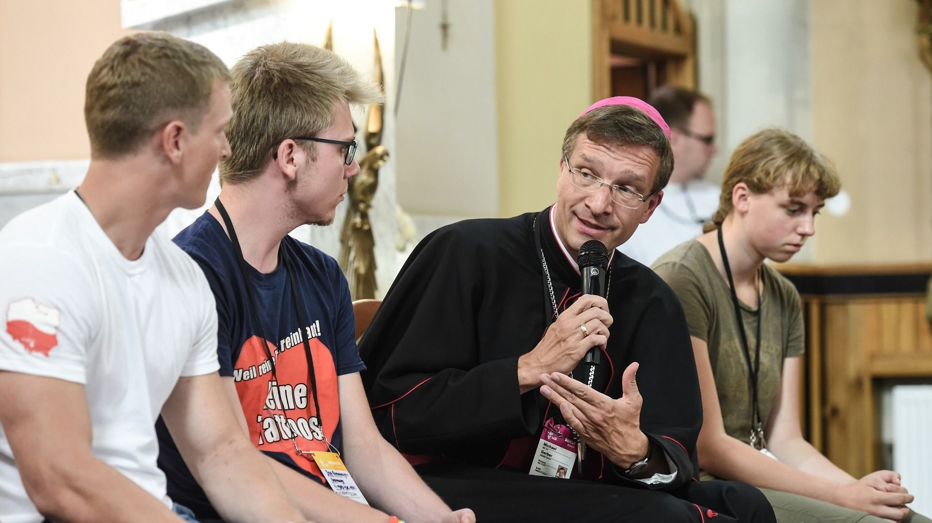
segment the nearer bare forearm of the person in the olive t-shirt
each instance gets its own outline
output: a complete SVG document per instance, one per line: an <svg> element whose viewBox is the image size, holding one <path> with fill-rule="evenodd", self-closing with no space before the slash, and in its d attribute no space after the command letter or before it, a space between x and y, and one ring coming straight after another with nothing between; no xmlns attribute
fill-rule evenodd
<svg viewBox="0 0 932 523"><path fill-rule="evenodd" d="M699 466L722 479L837 503L836 482L778 462L731 436L723 435L714 443L701 445L698 454Z"/></svg>

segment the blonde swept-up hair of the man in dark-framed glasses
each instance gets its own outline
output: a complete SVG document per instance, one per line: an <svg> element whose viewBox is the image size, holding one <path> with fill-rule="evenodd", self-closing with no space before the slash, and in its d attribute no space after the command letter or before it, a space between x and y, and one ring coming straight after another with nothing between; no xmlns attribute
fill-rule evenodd
<svg viewBox="0 0 932 523"><path fill-rule="evenodd" d="M317 136L334 120L334 103L380 103L372 82L331 51L281 42L256 47L232 68L233 117L226 137L232 154L220 163L220 181L248 181L281 141ZM313 142L302 141L308 154Z"/></svg>

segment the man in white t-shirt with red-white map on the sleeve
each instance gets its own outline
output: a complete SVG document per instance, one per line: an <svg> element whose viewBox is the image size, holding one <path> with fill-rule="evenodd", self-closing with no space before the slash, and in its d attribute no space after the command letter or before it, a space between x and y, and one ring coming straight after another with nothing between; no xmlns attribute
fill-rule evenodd
<svg viewBox="0 0 932 523"><path fill-rule="evenodd" d="M300 519L217 375L198 265L153 230L204 203L229 154L230 76L168 34L127 36L88 77L80 188L0 231L0 521L179 521L155 422L232 521Z"/></svg>

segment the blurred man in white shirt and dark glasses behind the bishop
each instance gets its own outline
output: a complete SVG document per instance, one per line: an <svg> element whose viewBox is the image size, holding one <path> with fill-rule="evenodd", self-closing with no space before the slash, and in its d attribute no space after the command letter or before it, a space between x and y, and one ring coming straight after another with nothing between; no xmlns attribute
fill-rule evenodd
<svg viewBox="0 0 932 523"><path fill-rule="evenodd" d="M719 208L719 186L703 180L715 145L715 114L706 96L681 87L660 87L649 101L670 126L674 166L664 200L651 220L618 249L650 266L667 250L702 234Z"/></svg>

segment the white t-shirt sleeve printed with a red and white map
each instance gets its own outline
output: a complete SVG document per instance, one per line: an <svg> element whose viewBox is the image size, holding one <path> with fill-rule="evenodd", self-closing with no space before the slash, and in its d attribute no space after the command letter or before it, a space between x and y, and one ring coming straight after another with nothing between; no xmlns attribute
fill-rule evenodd
<svg viewBox="0 0 932 523"><path fill-rule="evenodd" d="M47 246L0 248L0 369L86 383L100 306L91 277Z"/></svg>

